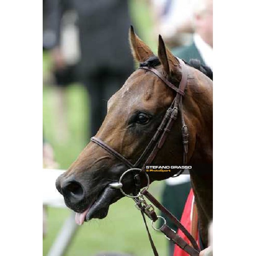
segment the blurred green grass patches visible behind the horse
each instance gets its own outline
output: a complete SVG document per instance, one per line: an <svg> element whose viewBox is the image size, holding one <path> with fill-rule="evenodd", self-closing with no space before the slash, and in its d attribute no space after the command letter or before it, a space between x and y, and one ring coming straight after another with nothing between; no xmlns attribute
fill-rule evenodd
<svg viewBox="0 0 256 256"><path fill-rule="evenodd" d="M145 1L130 0L132 23L136 32L153 50L157 41L152 37L152 19ZM49 73L51 60L44 54L43 72ZM43 124L44 137L55 151L56 161L61 169L67 169L88 142L87 127L89 100L86 90L79 84L73 84L67 91L67 116L70 136L65 144L56 139L58 131L55 123L58 116L54 113L55 90L49 84L43 87ZM162 183L152 184L150 190L158 198ZM69 209L48 207L48 232L43 239L43 255L47 255L61 225L69 216ZM75 221L75 220L74 220ZM148 221L149 226L151 224ZM154 242L160 255L167 255L167 240L151 229ZM134 256L153 255L140 212L130 198L123 198L111 205L107 218L92 220L79 227L76 236L67 250L66 256L93 256L99 252L123 252Z"/></svg>

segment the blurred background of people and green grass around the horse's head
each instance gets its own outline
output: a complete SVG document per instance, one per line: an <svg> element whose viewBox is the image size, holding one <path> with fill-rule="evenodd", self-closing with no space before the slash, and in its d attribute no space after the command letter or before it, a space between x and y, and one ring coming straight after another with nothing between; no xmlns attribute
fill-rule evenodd
<svg viewBox="0 0 256 256"><path fill-rule="evenodd" d="M155 53L161 34L180 58L198 58L212 67L209 15L210 0L43 0L44 168L68 169L96 134L109 97L135 69L128 46L130 24ZM203 45L200 50L201 39L195 35L209 49ZM185 183L181 209L189 178ZM150 191L166 201L172 185L155 182ZM48 255L70 212L44 204L43 255ZM170 255L167 239L154 230L151 233L160 255ZM140 212L129 198L111 205L107 218L76 229L65 255L107 256L109 252L153 255Z"/></svg>

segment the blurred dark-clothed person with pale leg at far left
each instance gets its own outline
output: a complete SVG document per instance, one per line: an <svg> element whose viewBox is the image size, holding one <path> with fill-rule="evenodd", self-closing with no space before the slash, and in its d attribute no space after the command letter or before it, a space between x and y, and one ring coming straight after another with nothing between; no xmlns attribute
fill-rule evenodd
<svg viewBox="0 0 256 256"><path fill-rule="evenodd" d="M54 84L53 111L58 117L55 118L55 137L59 143L65 143L69 137L67 88L78 81L80 52L76 22L71 0L43 1L43 49L51 57L53 77L48 76L47 83Z"/></svg>

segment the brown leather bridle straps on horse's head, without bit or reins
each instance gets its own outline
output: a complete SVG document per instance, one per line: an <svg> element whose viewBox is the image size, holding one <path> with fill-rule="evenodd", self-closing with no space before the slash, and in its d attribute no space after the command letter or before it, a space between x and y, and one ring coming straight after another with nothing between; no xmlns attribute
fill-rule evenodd
<svg viewBox="0 0 256 256"><path fill-rule="evenodd" d="M183 166L187 165L187 155L188 155L188 143L189 143L189 133L188 128L186 126L184 115L182 111L182 96L185 96L185 89L187 84L187 76L188 76L188 70L186 67L186 64L178 59L182 68L182 77L180 80L179 87L177 88L174 84L172 84L170 81L168 81L160 72L158 72L153 67L139 67L139 69L148 70L152 73L154 73L157 77L159 77L168 87L170 87L172 90L175 90L177 93L175 96L175 99L173 100L171 106L166 111L165 116L162 119L162 122L160 123L159 127L157 128L157 131L155 132L154 136L151 138L150 142L146 146L143 153L140 155L139 159L136 161L136 163L131 163L128 159L126 159L124 156L119 154L117 151L115 151L113 148L111 148L109 145L104 143L102 140L96 137L92 137L90 140L102 148L104 148L106 151L108 151L110 154L121 160L125 165L127 165L130 168L141 168L142 172L145 172L145 164L150 165L154 158L157 155L157 152L163 147L168 134L171 131L171 128L177 119L178 112L180 111L181 114L181 135L182 135L182 143L183 143ZM150 149L151 153L149 154ZM147 157L148 156L148 157ZM147 157L147 158L146 158ZM143 159L146 160L142 164ZM183 170L180 170L178 175L180 175ZM176 176L178 176L176 175ZM174 177L174 176L173 176Z"/></svg>

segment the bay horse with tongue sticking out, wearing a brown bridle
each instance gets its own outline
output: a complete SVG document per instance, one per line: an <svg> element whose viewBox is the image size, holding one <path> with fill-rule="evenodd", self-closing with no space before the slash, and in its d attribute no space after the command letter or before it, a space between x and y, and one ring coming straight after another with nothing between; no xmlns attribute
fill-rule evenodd
<svg viewBox="0 0 256 256"><path fill-rule="evenodd" d="M78 224L92 218L105 218L109 206L123 197L119 189L109 184L119 181L129 169L129 163L135 163L143 155L175 101L178 94L176 87L182 80L181 62L165 47L161 36L158 56L135 34L132 26L129 40L134 60L142 68L134 71L108 100L107 115L96 134L98 139L92 139L67 172L56 181L67 207L77 212ZM187 63L185 65L186 95L182 97L182 111L152 164L182 165L184 148L180 131L185 122L189 132L186 158L192 166L189 172L198 207L201 241L207 245L207 229L212 220L212 168L208 168L212 166L212 79L207 72L201 72L204 70L201 65L196 68ZM157 70L155 74L159 76L150 72L150 68ZM164 81L174 84L176 87L172 89L176 90L171 90ZM205 169L206 166L208 169ZM173 169L172 172L154 175L148 173L149 183L167 179L177 172ZM132 175L125 175L122 183L126 193L134 191ZM145 175L142 175L140 186L144 187L146 183Z"/></svg>

